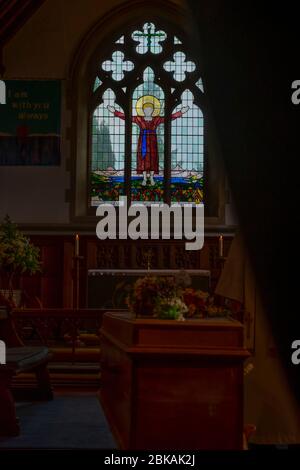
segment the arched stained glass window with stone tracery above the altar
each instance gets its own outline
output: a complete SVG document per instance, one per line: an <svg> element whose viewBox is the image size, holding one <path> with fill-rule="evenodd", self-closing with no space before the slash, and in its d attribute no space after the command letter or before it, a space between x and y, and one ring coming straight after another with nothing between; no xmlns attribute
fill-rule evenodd
<svg viewBox="0 0 300 470"><path fill-rule="evenodd" d="M204 201L206 103L184 37L155 22L99 55L89 99L89 205Z"/></svg>

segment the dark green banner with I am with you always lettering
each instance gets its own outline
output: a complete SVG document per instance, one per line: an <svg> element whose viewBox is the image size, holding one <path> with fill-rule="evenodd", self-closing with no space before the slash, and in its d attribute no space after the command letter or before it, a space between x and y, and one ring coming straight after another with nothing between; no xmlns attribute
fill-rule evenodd
<svg viewBox="0 0 300 470"><path fill-rule="evenodd" d="M5 80L0 165L59 165L61 82Z"/></svg>

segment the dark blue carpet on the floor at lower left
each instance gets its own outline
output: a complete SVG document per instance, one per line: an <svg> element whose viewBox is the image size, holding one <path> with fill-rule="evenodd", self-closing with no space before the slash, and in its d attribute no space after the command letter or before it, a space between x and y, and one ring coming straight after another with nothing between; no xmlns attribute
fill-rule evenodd
<svg viewBox="0 0 300 470"><path fill-rule="evenodd" d="M115 449L99 401L94 396L55 397L17 406L21 435L0 438L0 448Z"/></svg>

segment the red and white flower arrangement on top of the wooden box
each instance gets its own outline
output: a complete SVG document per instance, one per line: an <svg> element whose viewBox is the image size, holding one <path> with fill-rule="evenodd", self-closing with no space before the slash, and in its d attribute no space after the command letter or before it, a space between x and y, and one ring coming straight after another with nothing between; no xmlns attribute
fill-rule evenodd
<svg viewBox="0 0 300 470"><path fill-rule="evenodd" d="M187 287L188 276L179 273L175 277L151 276L136 281L127 305L136 316L152 316L162 319L223 317L230 311L215 305L208 292Z"/></svg>

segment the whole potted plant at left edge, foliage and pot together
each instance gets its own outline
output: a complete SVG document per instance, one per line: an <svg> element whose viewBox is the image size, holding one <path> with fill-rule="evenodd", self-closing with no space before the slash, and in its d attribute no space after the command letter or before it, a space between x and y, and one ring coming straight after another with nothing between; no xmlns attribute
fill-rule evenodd
<svg viewBox="0 0 300 470"><path fill-rule="evenodd" d="M22 234L17 225L7 215L0 224L0 270L6 289L2 294L14 304L18 304L20 291L14 292L15 282L22 274L40 271L40 250L28 237Z"/></svg>

